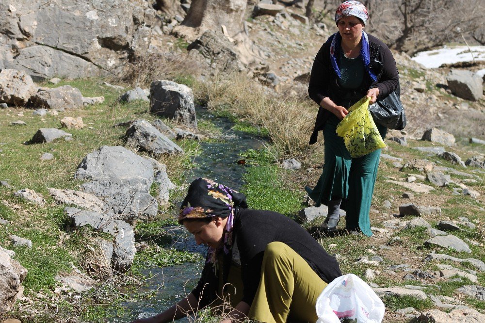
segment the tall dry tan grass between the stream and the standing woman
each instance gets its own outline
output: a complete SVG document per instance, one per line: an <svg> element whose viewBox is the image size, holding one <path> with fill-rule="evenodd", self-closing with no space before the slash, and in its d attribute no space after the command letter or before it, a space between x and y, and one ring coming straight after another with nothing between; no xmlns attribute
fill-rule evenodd
<svg viewBox="0 0 485 323"><path fill-rule="evenodd" d="M307 141L315 118L315 109L309 101L277 97L257 81L239 73L216 75L197 84L194 91L196 97L207 102L208 109L229 110L266 128L279 158L307 155Z"/></svg>

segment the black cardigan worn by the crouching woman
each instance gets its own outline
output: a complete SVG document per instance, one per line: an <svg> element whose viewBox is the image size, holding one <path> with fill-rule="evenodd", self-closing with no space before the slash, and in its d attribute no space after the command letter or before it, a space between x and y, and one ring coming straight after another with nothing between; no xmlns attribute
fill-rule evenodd
<svg viewBox="0 0 485 323"><path fill-rule="evenodd" d="M323 281L329 283L342 275L337 260L299 224L273 211L240 209L235 217L233 235L241 256L243 284L242 301L251 305L259 286L264 250L270 242L283 242L304 258ZM222 273L227 282L231 254L226 257ZM207 285L206 285L207 284ZM218 278L212 264L206 263L197 287L192 294L200 299L199 307L206 307L215 300Z"/></svg>

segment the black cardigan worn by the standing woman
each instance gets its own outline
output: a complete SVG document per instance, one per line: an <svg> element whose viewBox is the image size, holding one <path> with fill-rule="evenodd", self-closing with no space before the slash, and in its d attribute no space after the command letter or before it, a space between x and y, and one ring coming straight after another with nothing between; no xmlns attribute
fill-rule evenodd
<svg viewBox="0 0 485 323"><path fill-rule="evenodd" d="M376 37L369 34L368 37L370 49L369 67L377 76L377 82L371 79L369 73L365 73L364 80L359 88L348 90L339 86L338 76L330 63L332 35L318 51L311 68L308 95L313 101L320 105L324 97L329 97L335 104L350 108L364 97L371 88L378 88L378 98L384 98L399 87L399 74L391 51L386 44ZM337 64L339 64L339 55L336 55L336 58ZM323 130L323 125L330 113L330 111L319 107L315 127L310 137L310 145L317 142L318 131Z"/></svg>

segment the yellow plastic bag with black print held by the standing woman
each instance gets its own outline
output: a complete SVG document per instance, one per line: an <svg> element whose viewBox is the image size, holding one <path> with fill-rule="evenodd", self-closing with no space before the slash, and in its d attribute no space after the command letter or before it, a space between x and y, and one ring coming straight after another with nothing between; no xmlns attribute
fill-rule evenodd
<svg viewBox="0 0 485 323"><path fill-rule="evenodd" d="M337 134L343 137L352 158L362 157L386 146L369 112L369 99L363 97L350 107L349 114L337 126Z"/></svg>

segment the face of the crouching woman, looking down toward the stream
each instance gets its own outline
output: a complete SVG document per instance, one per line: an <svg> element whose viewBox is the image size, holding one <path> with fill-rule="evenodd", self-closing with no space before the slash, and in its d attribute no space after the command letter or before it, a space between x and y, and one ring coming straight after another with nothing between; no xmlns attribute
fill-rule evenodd
<svg viewBox="0 0 485 323"><path fill-rule="evenodd" d="M224 243L225 221L220 217L214 217L210 222L185 221L184 226L194 235L197 244L205 244L214 249Z"/></svg>

